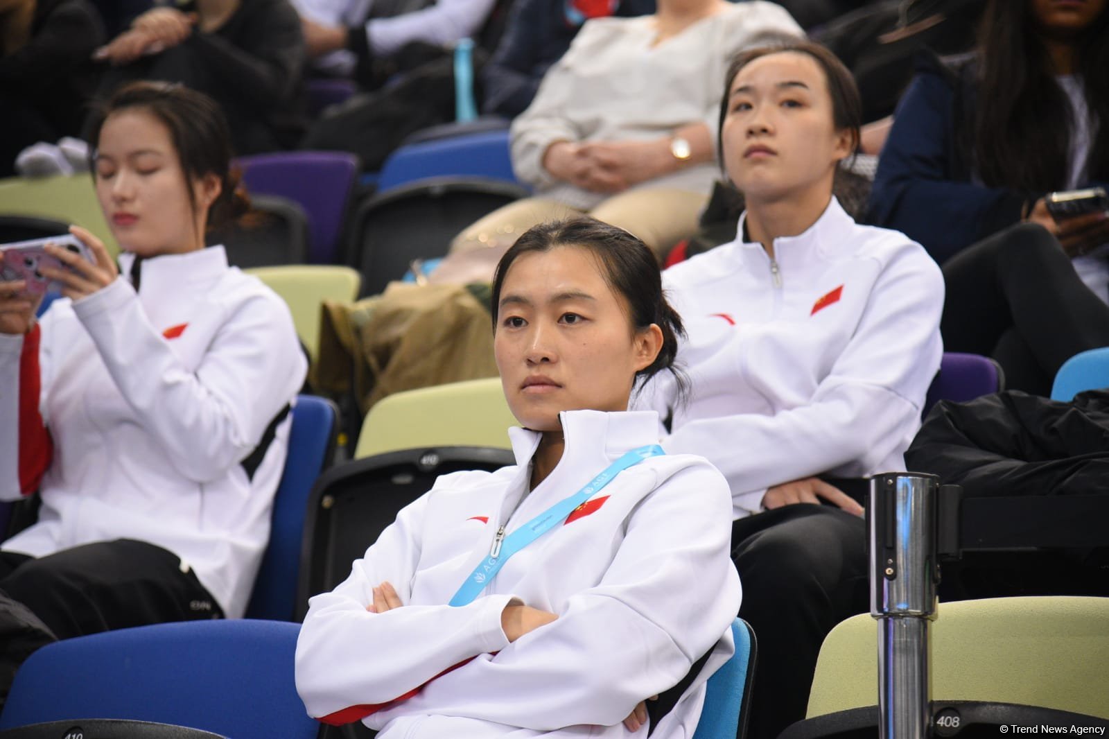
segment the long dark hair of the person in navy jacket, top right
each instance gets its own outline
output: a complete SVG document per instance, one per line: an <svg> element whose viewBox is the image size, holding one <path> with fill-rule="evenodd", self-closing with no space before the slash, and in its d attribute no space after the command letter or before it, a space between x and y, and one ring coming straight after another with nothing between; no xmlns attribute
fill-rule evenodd
<svg viewBox="0 0 1109 739"><path fill-rule="evenodd" d="M1051 60L1028 0L993 0L978 37L977 113L969 140L983 184L1027 196L1067 186L1074 112L1055 80ZM1109 11L1076 39L1091 118L1109 125ZM1109 136L1093 138L1090 180L1109 178Z"/></svg>

